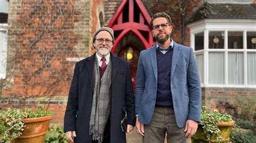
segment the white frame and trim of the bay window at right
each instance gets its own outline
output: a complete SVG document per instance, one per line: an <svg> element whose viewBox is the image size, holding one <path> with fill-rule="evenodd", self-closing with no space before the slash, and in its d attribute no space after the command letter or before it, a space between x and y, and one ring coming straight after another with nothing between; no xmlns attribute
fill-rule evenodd
<svg viewBox="0 0 256 143"><path fill-rule="evenodd" d="M256 85L247 84L247 52L256 52L255 49L247 49L247 32L256 32L255 19L203 19L187 25L190 28L191 47L195 49L195 35L204 32L204 49L194 51L194 54L204 53L204 82L201 87L220 87L220 88L256 88ZM208 33L210 31L224 31L225 43L224 49L208 49ZM228 49L227 46L227 32L237 31L243 32L243 49ZM208 53L209 52L224 52L225 55L225 84L209 84L208 82ZM244 85L228 84L227 71L227 54L228 52L242 52L244 53Z"/></svg>

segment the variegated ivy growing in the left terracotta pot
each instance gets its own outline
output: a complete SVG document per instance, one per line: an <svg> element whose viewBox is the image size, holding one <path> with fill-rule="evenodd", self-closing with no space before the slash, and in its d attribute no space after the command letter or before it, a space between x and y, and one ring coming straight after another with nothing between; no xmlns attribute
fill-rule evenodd
<svg viewBox="0 0 256 143"><path fill-rule="evenodd" d="M35 110L31 110L29 108L15 109L8 108L2 114L2 124L0 126L3 127L3 132L1 133L0 139L2 140L12 140L19 137L24 130L24 118L37 118L52 115L52 111L46 111L44 106L37 106Z"/></svg>

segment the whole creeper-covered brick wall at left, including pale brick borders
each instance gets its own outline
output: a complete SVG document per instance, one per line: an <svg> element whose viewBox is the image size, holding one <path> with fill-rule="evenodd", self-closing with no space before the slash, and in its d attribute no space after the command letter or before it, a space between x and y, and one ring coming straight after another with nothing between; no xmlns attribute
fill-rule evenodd
<svg viewBox="0 0 256 143"><path fill-rule="evenodd" d="M51 123L63 124L75 63L91 55L92 9L88 0L10 1L0 108L48 105Z"/></svg>

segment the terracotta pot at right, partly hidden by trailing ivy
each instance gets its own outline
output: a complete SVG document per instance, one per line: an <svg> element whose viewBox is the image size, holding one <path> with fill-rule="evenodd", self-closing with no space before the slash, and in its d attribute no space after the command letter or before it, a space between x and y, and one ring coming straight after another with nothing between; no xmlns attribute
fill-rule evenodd
<svg viewBox="0 0 256 143"><path fill-rule="evenodd" d="M231 129L234 125L234 121L229 121L229 122L223 122L223 123L218 123L217 126L220 130L221 137L223 140L217 141L216 137L213 135L210 140L207 140L206 134L203 132L202 126L198 125L198 129L196 134L194 134L191 137L191 142L192 143L208 143L208 142L229 142L230 141L230 133Z"/></svg>

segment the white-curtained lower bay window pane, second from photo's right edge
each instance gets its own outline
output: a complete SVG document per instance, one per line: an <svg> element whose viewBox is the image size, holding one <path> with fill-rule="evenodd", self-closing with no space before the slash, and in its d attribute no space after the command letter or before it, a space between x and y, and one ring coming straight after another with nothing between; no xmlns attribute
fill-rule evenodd
<svg viewBox="0 0 256 143"><path fill-rule="evenodd" d="M244 84L244 53L228 53L228 84Z"/></svg>

